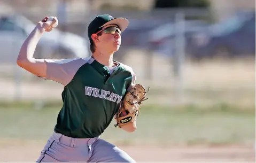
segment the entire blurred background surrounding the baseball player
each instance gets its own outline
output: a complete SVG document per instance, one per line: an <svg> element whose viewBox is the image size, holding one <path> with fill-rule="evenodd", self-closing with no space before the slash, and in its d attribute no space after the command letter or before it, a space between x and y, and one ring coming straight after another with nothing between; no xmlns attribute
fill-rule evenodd
<svg viewBox="0 0 256 163"><path fill-rule="evenodd" d="M0 0L0 161L35 161L51 136L63 86L16 64L45 16L36 58L88 57L87 26L99 14L125 17L114 59L150 87L137 130L111 124L102 138L138 162L255 162L255 1Z"/></svg>

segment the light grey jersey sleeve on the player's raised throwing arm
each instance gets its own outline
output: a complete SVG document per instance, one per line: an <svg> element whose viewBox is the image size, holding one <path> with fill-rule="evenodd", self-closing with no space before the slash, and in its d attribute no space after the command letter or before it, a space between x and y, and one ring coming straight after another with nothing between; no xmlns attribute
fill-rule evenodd
<svg viewBox="0 0 256 163"><path fill-rule="evenodd" d="M44 59L46 63L46 80L56 81L66 86L78 69L86 63L84 59ZM39 76L40 77L40 76Z"/></svg>

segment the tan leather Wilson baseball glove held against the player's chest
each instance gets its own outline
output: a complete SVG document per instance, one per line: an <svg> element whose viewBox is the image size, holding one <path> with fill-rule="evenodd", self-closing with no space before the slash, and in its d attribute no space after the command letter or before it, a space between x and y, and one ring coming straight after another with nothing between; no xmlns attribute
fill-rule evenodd
<svg viewBox="0 0 256 163"><path fill-rule="evenodd" d="M148 90L149 91L149 90ZM130 86L122 99L117 112L116 118L117 124L115 127L126 125L127 123L133 123L139 114L139 109L141 103L148 99L146 93L148 92L141 84L135 84L135 86Z"/></svg>

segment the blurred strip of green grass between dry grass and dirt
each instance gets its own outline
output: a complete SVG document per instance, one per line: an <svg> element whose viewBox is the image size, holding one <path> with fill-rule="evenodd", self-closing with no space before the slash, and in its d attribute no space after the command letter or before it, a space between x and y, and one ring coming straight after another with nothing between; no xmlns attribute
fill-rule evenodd
<svg viewBox="0 0 256 163"><path fill-rule="evenodd" d="M46 106L41 110L32 106L0 107L0 136L47 139L53 132L59 109L60 106ZM114 121L102 138L122 145L135 142L161 146L250 144L255 139L255 110L224 104L212 107L145 105L134 133L127 134L113 125Z"/></svg>

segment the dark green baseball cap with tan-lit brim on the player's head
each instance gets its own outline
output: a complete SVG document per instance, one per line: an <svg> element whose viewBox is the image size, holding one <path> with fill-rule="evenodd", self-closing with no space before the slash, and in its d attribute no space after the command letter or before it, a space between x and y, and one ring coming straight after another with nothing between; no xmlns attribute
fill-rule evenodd
<svg viewBox="0 0 256 163"><path fill-rule="evenodd" d="M98 32L98 30L106 25L115 24L118 25L123 32L129 25L129 21L126 18L114 18L109 14L98 15L92 20L88 26L88 37L90 42L92 41L91 35Z"/></svg>

